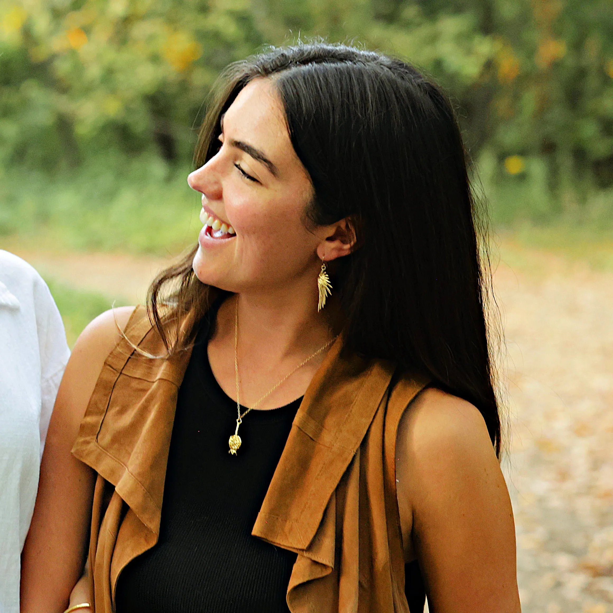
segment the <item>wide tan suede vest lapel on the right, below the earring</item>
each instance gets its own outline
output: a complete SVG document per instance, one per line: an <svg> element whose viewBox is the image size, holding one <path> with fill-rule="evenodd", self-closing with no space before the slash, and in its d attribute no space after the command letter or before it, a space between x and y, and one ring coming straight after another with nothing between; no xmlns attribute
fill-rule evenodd
<svg viewBox="0 0 613 613"><path fill-rule="evenodd" d="M328 352L294 419L252 534L333 566L334 539L313 541L394 373L391 362Z"/></svg>

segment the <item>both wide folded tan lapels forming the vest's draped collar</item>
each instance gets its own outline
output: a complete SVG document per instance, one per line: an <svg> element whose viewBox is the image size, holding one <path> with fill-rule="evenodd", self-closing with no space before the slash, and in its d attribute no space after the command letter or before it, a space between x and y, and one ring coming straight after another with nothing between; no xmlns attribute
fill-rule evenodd
<svg viewBox="0 0 613 613"><path fill-rule="evenodd" d="M166 470L150 467L160 456L167 459L176 391L191 349L170 358L139 355L132 345L154 356L159 353L151 349L162 349L159 342L147 342L147 337L156 335L142 311L137 307L132 315L130 324L135 325L129 324L129 341L122 338L104 362L72 452L112 483L143 524L158 534ZM308 547L393 373L390 362L346 356L342 338L337 338L297 411L257 517L255 536L289 549ZM125 386L121 386L124 398L116 398L120 407L113 410L113 388L120 379L131 380L132 389L137 389L131 394L131 402ZM143 383L164 389L166 397L140 397ZM101 398L107 401L103 411L97 406ZM135 432L133 428L143 422L144 431ZM291 487L291 496L286 495L287 487Z"/></svg>

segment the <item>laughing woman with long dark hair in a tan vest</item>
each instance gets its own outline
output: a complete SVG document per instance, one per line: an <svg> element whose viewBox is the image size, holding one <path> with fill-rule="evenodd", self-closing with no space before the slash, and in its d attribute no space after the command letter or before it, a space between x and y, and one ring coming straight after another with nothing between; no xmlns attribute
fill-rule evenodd
<svg viewBox="0 0 613 613"><path fill-rule="evenodd" d="M70 604L97 613L414 613L422 577L432 611L516 613L449 101L325 44L224 83L188 178L197 247L154 282L150 318L106 313L75 346L22 611L62 611L87 558Z"/></svg>

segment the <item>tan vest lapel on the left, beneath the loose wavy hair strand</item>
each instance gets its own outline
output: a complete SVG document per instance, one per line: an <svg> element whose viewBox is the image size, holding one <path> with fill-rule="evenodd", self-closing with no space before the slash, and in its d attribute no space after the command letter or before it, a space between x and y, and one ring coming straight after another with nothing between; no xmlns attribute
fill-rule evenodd
<svg viewBox="0 0 613 613"><path fill-rule="evenodd" d="M113 484L157 535L177 393L191 351L140 355L134 346L153 356L165 352L143 307L134 310L126 337L104 362L72 454Z"/></svg>

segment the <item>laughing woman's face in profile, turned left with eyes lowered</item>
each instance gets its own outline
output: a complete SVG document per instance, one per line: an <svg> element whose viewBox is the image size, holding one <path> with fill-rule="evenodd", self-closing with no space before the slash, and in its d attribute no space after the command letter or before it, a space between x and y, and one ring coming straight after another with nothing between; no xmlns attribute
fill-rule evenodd
<svg viewBox="0 0 613 613"><path fill-rule="evenodd" d="M289 289L307 277L315 288L317 249L326 237L305 227L313 186L270 79L240 91L219 140L219 152L188 177L202 192L197 277L231 292Z"/></svg>

